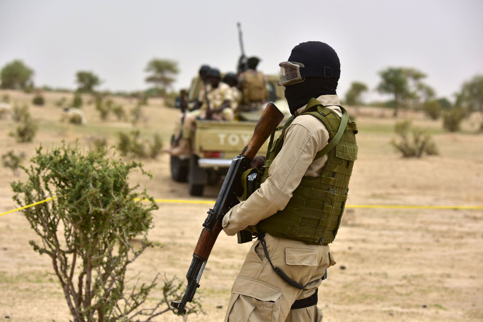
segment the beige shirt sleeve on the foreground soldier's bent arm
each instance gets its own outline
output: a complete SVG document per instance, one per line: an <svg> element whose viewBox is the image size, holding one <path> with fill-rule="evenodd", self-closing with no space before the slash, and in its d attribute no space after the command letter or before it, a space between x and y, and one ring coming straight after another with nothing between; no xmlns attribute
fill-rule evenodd
<svg viewBox="0 0 483 322"><path fill-rule="evenodd" d="M285 132L282 150L270 165L267 180L246 201L233 207L223 218L222 226L227 235L235 235L247 226L256 225L260 220L284 209L313 162L315 154L325 145L327 140L321 143L308 127L302 124L289 126Z"/></svg>

